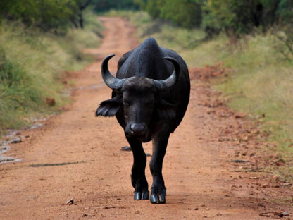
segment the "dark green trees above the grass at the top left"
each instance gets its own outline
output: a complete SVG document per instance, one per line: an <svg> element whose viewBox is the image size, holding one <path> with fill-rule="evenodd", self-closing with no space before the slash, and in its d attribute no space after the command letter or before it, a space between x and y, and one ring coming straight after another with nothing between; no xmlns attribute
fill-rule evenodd
<svg viewBox="0 0 293 220"><path fill-rule="evenodd" d="M81 11L89 0L1 0L0 19L21 20L27 27L44 31L67 30L72 23L83 26Z"/></svg>

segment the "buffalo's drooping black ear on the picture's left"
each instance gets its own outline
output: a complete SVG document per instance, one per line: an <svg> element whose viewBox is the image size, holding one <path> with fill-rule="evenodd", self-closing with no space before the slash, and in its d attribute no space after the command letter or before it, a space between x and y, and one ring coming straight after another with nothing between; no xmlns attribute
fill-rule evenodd
<svg viewBox="0 0 293 220"><path fill-rule="evenodd" d="M120 109L121 104L122 101L118 97L113 97L113 99L103 101L101 102L99 108L96 109L96 116L115 116L117 111Z"/></svg>

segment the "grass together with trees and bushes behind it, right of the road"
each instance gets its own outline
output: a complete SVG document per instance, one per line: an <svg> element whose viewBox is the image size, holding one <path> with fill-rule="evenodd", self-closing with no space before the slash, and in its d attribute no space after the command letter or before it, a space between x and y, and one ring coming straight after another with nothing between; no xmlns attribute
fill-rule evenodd
<svg viewBox="0 0 293 220"><path fill-rule="evenodd" d="M228 77L213 80L213 89L223 92L230 108L258 122L273 143L264 150L280 156L281 165L270 172L292 181L292 1L135 2L146 12L112 10L108 15L129 18L139 39L155 37L190 67L221 62L230 68ZM195 11L197 18L189 15Z"/></svg>

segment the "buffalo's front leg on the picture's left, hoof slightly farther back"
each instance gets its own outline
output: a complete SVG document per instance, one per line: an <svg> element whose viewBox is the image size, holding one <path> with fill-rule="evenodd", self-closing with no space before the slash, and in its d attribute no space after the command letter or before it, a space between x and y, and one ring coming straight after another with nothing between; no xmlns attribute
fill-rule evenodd
<svg viewBox="0 0 293 220"><path fill-rule="evenodd" d="M131 174L132 186L135 188L135 200L149 200L149 185L146 181L146 154L139 140L127 138L133 154Z"/></svg>

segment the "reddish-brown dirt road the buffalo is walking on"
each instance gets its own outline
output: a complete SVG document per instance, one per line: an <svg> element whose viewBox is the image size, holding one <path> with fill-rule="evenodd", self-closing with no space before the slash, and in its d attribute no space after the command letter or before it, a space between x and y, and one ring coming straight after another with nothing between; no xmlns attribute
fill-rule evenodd
<svg viewBox="0 0 293 220"><path fill-rule="evenodd" d="M0 164L0 219L289 219L292 189L258 167L257 135L195 79L164 159L166 204L133 200L132 153L120 151L127 145L123 130L116 118L95 118L94 111L111 96L101 59L116 54L109 63L114 72L137 42L126 20L100 19L103 43L86 51L97 61L67 74L75 82L73 104L42 128L21 130L23 142L6 153L21 161ZM151 145L145 151L151 154Z"/></svg>

